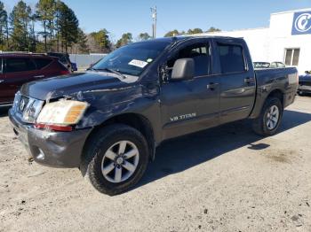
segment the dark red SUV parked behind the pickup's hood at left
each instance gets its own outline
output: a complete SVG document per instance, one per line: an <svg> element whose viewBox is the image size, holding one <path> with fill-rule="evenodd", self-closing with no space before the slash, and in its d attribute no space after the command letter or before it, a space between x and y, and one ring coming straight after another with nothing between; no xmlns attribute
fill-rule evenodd
<svg viewBox="0 0 311 232"><path fill-rule="evenodd" d="M15 93L26 82L68 73L59 58L44 54L0 54L0 106L12 104Z"/></svg>

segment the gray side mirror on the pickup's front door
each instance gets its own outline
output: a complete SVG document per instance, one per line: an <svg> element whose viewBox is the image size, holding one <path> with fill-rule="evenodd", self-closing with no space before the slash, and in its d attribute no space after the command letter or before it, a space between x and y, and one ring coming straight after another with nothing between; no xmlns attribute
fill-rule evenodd
<svg viewBox="0 0 311 232"><path fill-rule="evenodd" d="M172 68L172 80L190 80L195 75L195 61L193 58L179 58Z"/></svg>

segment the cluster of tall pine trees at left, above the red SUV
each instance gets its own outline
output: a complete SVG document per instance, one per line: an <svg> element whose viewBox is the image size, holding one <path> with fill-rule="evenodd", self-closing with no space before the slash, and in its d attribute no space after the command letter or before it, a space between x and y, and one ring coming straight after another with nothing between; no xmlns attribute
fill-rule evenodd
<svg viewBox="0 0 311 232"><path fill-rule="evenodd" d="M36 32L36 22L42 31ZM80 42L78 26L75 12L60 0L39 0L35 9L20 1L12 12L0 2L0 50L68 51Z"/></svg>

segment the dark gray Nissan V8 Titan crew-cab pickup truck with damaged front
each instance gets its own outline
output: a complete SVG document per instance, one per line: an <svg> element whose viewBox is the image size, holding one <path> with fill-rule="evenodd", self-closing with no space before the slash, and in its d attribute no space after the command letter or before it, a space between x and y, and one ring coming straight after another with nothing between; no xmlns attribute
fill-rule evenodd
<svg viewBox="0 0 311 232"><path fill-rule="evenodd" d="M243 39L171 37L25 84L9 117L36 162L77 167L116 195L140 181L164 140L243 119L275 135L297 89L295 68L255 71Z"/></svg>

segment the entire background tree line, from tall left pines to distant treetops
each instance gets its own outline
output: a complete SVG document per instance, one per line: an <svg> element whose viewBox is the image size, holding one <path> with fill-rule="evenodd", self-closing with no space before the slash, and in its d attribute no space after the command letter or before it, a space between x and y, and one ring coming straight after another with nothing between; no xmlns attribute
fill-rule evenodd
<svg viewBox="0 0 311 232"><path fill-rule="evenodd" d="M38 25L39 30L36 30ZM208 32L211 31L219 29L211 27ZM164 36L197 33L203 33L203 30L172 30ZM105 28L86 35L79 27L75 12L60 0L39 0L34 9L20 0L12 12L7 12L0 1L0 50L108 53L133 41L150 38L148 33L140 33L134 39L128 32L113 43Z"/></svg>

